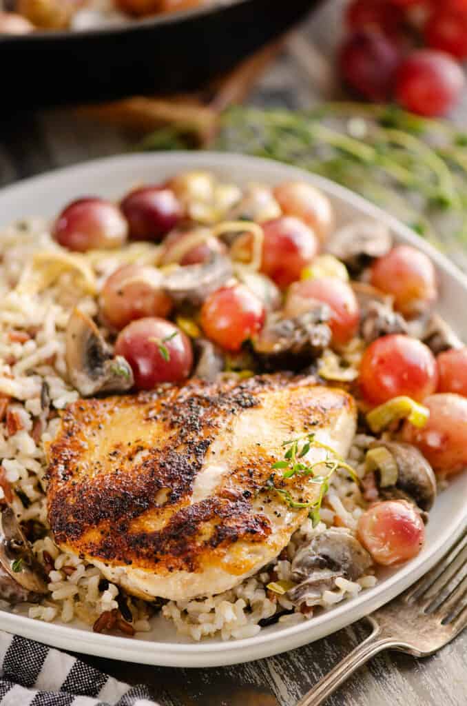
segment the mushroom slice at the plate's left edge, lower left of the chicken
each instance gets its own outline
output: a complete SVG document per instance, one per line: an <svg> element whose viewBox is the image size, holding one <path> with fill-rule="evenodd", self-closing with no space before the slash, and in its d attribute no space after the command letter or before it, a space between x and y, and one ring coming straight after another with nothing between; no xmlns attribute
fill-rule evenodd
<svg viewBox="0 0 467 706"><path fill-rule="evenodd" d="M42 566L32 554L15 513L0 510L0 597L10 603L37 601L48 592Z"/></svg>

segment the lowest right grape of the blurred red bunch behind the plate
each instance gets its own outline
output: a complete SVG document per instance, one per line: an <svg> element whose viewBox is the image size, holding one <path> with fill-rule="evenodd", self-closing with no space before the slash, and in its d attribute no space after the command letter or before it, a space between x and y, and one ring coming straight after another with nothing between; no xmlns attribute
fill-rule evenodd
<svg viewBox="0 0 467 706"><path fill-rule="evenodd" d="M459 100L464 84L463 71L449 54L418 49L399 66L396 98L414 113L443 115Z"/></svg>

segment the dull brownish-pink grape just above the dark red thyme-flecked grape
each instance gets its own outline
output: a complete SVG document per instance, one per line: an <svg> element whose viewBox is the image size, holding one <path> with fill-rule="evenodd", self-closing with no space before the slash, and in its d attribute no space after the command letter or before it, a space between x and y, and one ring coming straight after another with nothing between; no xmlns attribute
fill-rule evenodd
<svg viewBox="0 0 467 706"><path fill-rule="evenodd" d="M99 305L104 323L120 330L137 318L168 316L173 302L162 289L159 270L123 265L104 282Z"/></svg>

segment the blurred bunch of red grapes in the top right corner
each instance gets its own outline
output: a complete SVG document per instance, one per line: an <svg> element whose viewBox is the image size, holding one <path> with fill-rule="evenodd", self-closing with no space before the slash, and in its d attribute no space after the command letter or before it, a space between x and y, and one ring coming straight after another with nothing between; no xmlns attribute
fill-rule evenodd
<svg viewBox="0 0 467 706"><path fill-rule="evenodd" d="M467 0L351 0L339 54L351 90L396 100L425 116L444 115L465 85Z"/></svg>

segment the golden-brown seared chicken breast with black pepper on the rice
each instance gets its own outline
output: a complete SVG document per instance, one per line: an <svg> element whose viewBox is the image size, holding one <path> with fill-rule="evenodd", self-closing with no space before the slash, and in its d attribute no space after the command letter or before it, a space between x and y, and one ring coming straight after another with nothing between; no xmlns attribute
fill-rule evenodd
<svg viewBox="0 0 467 706"><path fill-rule="evenodd" d="M272 477L282 444L313 432L345 456L355 429L350 395L285 374L78 400L47 451L51 530L136 596L216 594L272 561L305 519L274 486L317 496L310 477ZM305 460L326 454L312 446Z"/></svg>

